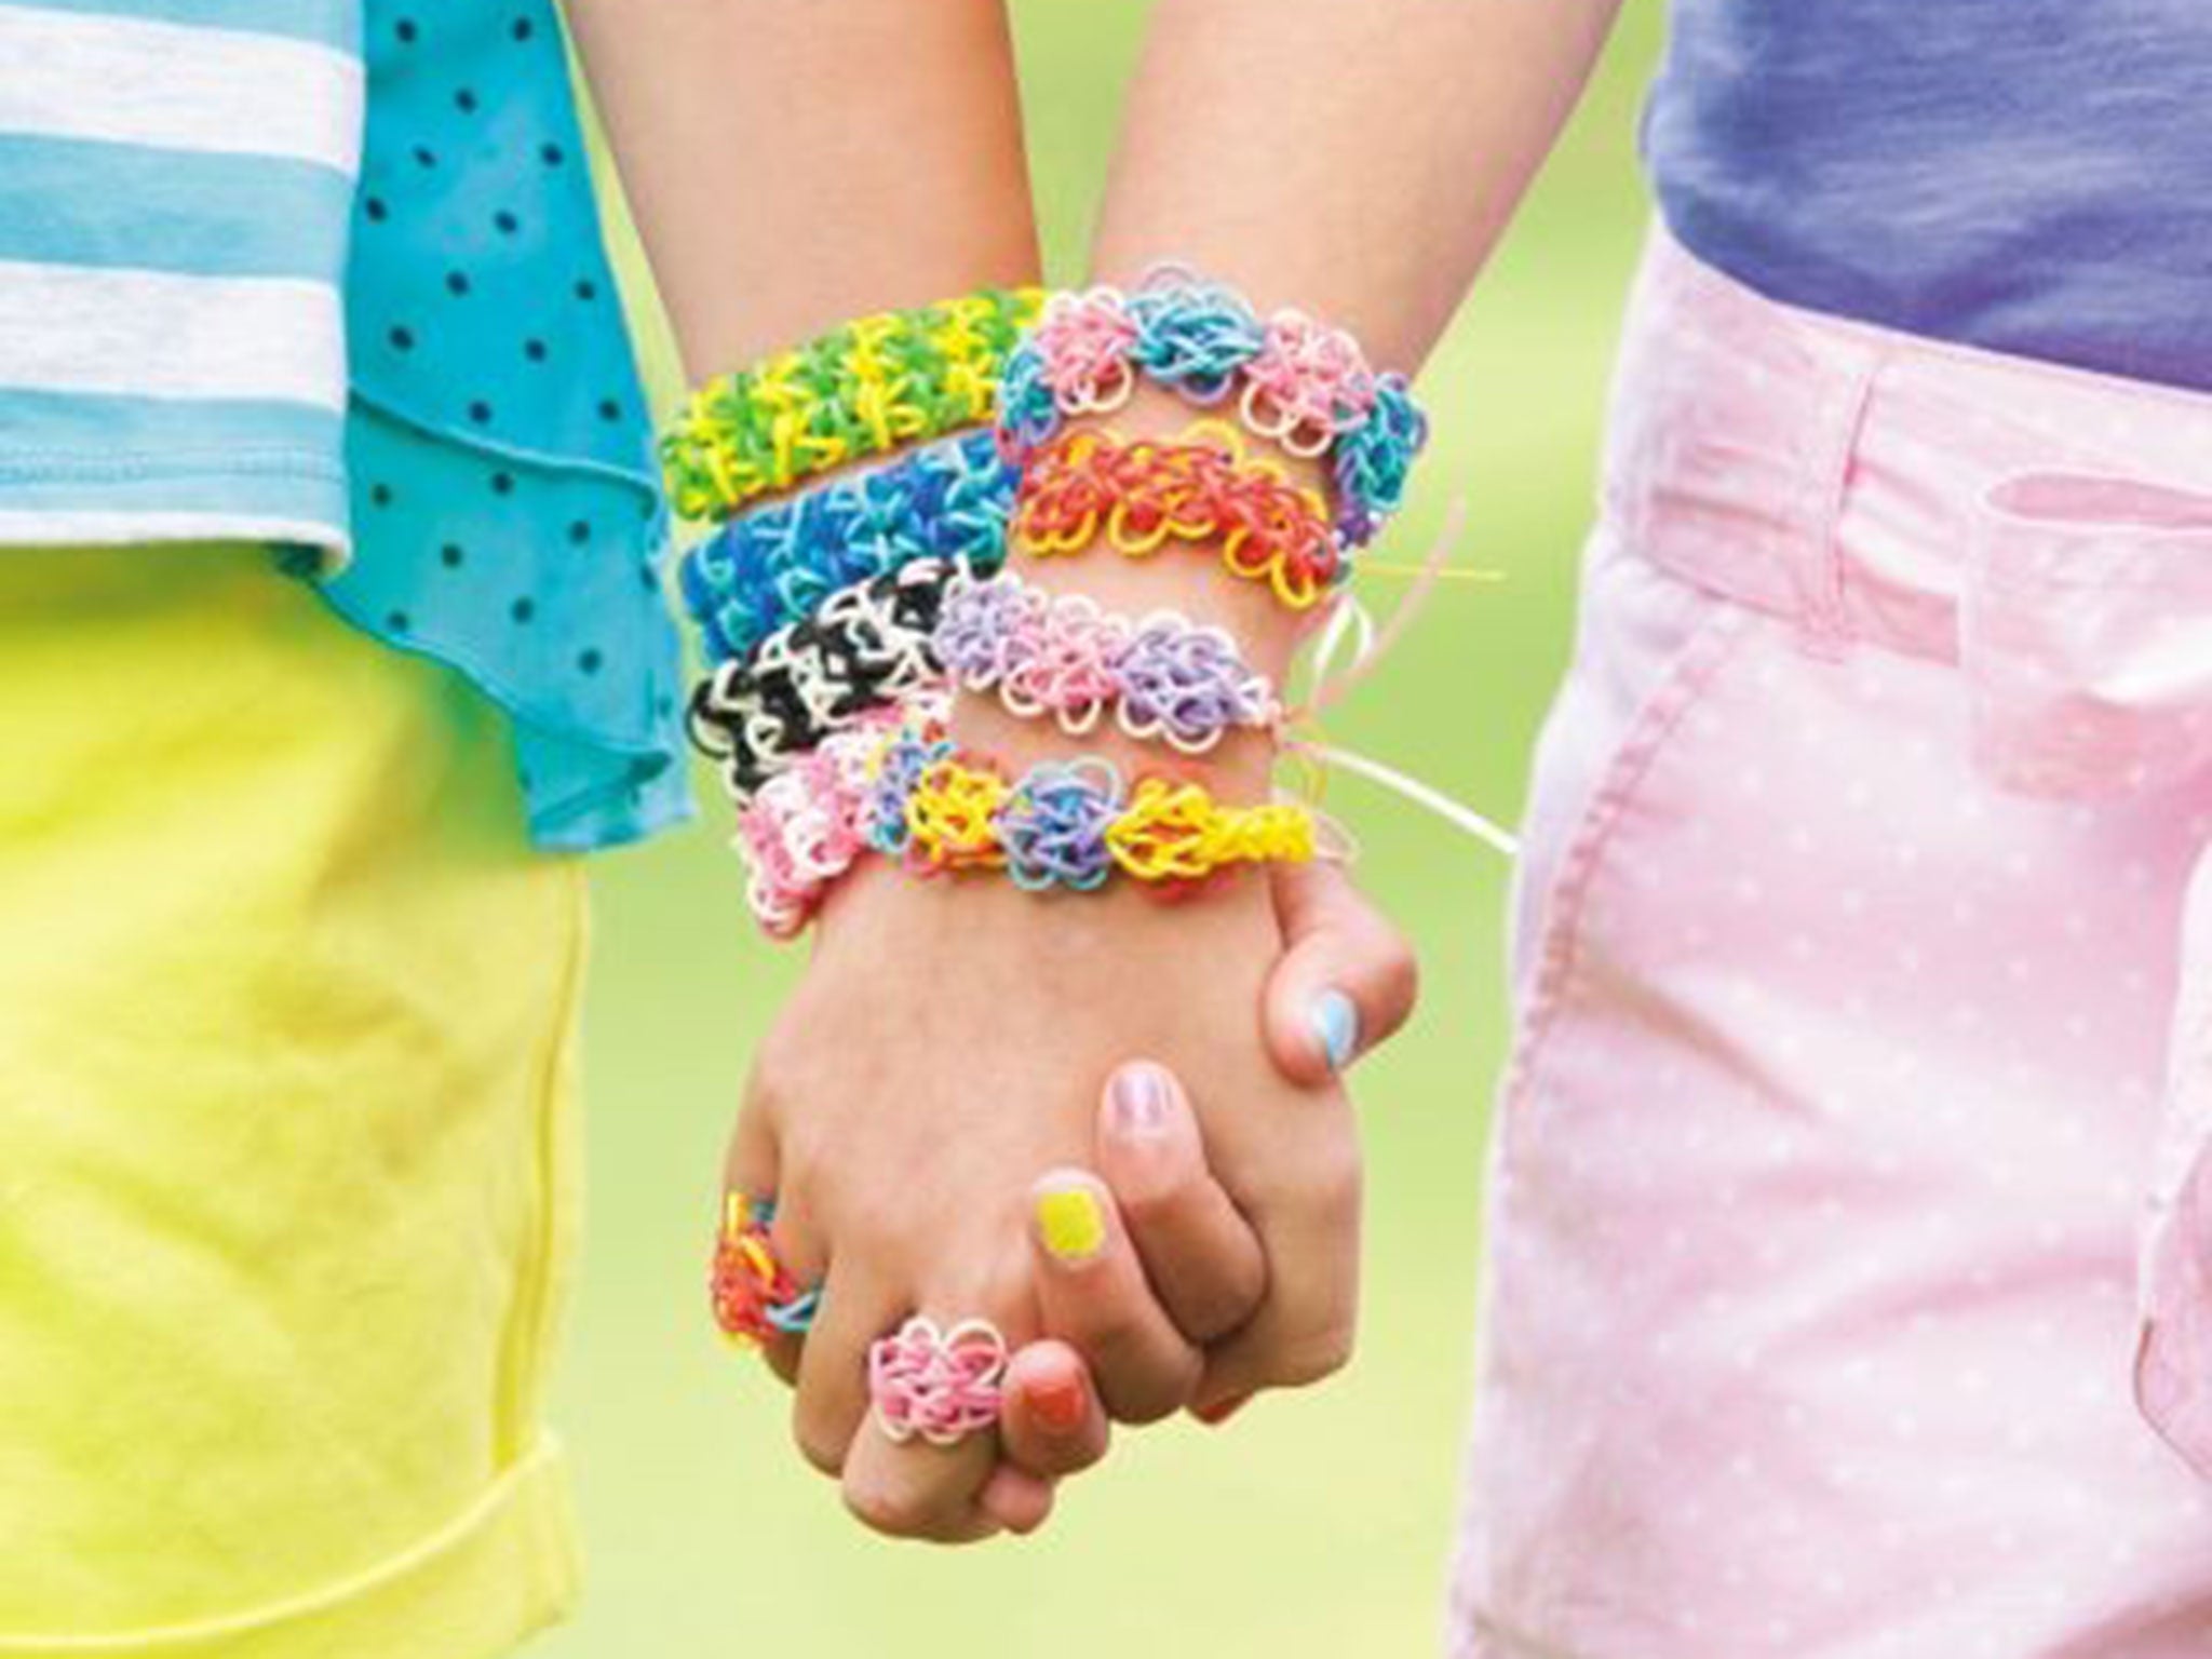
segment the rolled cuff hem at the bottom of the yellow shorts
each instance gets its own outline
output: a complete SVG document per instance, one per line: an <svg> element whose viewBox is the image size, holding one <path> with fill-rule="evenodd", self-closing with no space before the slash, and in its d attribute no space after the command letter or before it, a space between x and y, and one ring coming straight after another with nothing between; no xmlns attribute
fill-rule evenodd
<svg viewBox="0 0 2212 1659"><path fill-rule="evenodd" d="M484 1659L577 1597L568 1467L551 1436L467 1511L365 1573L232 1617L115 1635L0 1635L4 1659Z"/></svg>

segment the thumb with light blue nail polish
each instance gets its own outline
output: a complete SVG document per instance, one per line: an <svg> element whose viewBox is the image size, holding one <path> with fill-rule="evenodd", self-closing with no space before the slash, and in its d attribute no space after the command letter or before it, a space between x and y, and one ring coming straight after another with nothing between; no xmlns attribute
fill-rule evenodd
<svg viewBox="0 0 2212 1659"><path fill-rule="evenodd" d="M1267 973L1261 1024L1290 1082L1318 1086L1413 1013L1413 949L1332 863L1272 865L1283 956Z"/></svg>

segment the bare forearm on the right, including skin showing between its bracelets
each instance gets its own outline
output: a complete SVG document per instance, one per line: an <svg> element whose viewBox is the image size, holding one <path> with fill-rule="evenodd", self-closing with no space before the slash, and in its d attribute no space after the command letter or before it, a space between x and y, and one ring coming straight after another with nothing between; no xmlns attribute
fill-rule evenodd
<svg viewBox="0 0 2212 1659"><path fill-rule="evenodd" d="M1349 330L1413 372L1573 108L1619 0L1164 0L1128 97L1095 243L1099 281L1157 261ZM1104 425L1170 436L1201 411L1144 389ZM1210 411L1230 414L1230 407ZM1318 460L1276 453L1332 491ZM1175 606L1237 633L1270 675L1301 617L1192 557L1037 568L1115 611ZM1314 615L1312 611L1305 613ZM1232 787L1265 757L1230 743Z"/></svg>

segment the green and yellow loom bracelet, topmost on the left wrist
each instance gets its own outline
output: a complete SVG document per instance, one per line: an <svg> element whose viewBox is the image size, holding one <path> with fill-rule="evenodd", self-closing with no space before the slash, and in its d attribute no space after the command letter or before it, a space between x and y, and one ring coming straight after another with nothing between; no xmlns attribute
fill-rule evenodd
<svg viewBox="0 0 2212 1659"><path fill-rule="evenodd" d="M661 438L684 518L728 518L761 495L998 414L998 387L1037 288L987 288L834 327L699 387Z"/></svg>

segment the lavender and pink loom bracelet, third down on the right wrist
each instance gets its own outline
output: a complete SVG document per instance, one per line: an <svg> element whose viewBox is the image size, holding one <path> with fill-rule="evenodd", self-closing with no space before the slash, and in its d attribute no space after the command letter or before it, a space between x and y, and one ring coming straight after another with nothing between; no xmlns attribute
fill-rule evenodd
<svg viewBox="0 0 2212 1659"><path fill-rule="evenodd" d="M956 684L995 692L1024 719L1048 714L1071 737L1110 708L1133 739L1203 754L1223 732L1270 730L1283 714L1225 628L1175 611L1119 617L1011 571L951 577L931 653Z"/></svg>

